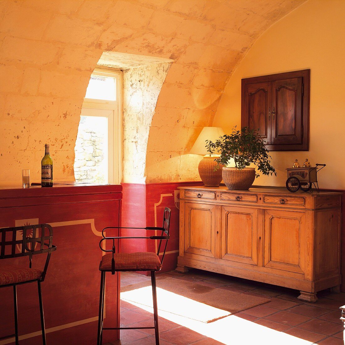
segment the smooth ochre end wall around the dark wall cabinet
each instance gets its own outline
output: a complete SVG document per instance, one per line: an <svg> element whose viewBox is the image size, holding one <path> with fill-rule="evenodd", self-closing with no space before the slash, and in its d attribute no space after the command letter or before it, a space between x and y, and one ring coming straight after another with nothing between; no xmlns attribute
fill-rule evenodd
<svg viewBox="0 0 345 345"><path fill-rule="evenodd" d="M309 0L270 27L250 48L220 99L214 126L240 126L241 79L311 69L309 151L271 152L277 177L256 185L284 186L286 168L297 158L327 166L322 188L345 189L345 1Z"/></svg>

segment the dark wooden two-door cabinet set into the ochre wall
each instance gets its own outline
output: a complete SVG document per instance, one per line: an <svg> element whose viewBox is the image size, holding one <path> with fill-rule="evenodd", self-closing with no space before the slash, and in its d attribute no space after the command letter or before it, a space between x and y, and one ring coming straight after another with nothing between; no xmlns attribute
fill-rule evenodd
<svg viewBox="0 0 345 345"><path fill-rule="evenodd" d="M270 151L308 150L310 70L242 79L241 126Z"/></svg>

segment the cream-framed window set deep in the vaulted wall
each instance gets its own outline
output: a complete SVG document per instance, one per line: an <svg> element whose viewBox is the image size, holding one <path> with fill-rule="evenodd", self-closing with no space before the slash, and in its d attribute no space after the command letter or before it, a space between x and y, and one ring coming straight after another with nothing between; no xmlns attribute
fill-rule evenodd
<svg viewBox="0 0 345 345"><path fill-rule="evenodd" d="M80 183L120 183L120 72L95 70L81 109L74 171Z"/></svg>

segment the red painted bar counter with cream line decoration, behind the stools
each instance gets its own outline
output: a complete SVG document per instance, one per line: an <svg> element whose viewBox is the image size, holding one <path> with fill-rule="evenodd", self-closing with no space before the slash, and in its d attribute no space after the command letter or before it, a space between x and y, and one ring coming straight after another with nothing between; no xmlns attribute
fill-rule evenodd
<svg viewBox="0 0 345 345"><path fill-rule="evenodd" d="M0 227L48 223L53 228L52 253L42 283L47 343L96 344L102 252L101 231L118 226L122 187L65 183L52 188L0 188ZM40 258L40 256L42 256ZM6 259L1 260L5 262ZM28 267L28 258L19 258ZM33 257L40 268L44 255ZM1 264L1 262L0 262ZM21 345L41 344L37 284L19 285L18 323ZM105 325L119 327L118 276L107 279ZM14 332L13 289L0 288L0 337ZM13 332L12 332L13 331ZM21 340L22 339L22 340ZM117 331L104 333L103 342L118 339ZM14 341L6 339L2 344Z"/></svg>

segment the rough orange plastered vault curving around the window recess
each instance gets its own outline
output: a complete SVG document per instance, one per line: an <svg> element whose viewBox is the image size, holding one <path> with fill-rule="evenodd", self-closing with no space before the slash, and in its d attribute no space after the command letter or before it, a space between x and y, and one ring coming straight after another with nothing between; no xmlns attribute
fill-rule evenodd
<svg viewBox="0 0 345 345"><path fill-rule="evenodd" d="M55 180L74 179L80 109L104 51L174 61L138 162L148 182L196 178L198 159L187 154L212 123L231 72L260 34L303 2L1 1L1 186L20 185L23 168L39 181L46 142Z"/></svg>

